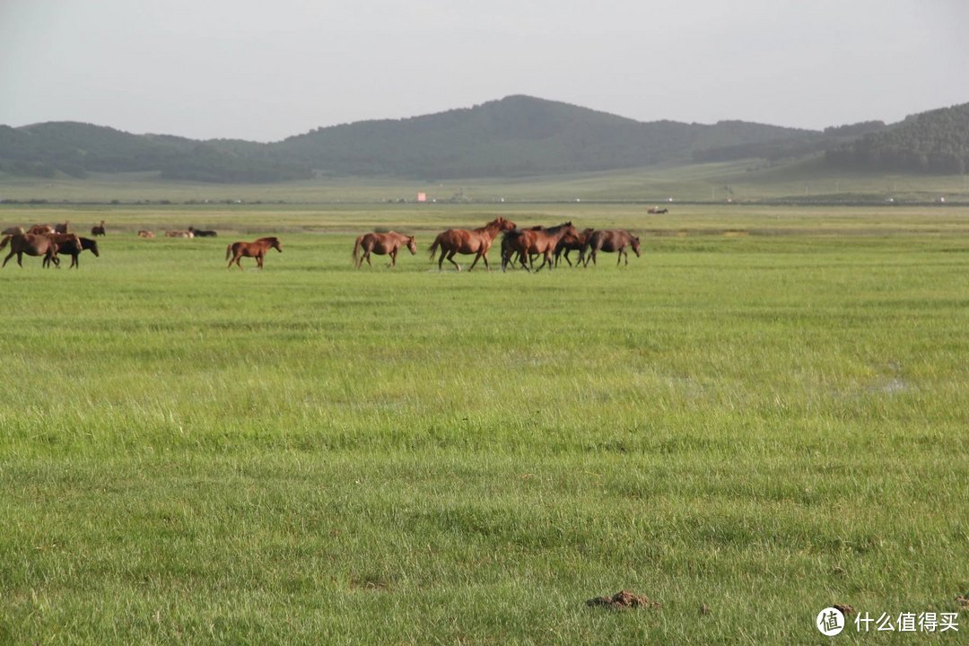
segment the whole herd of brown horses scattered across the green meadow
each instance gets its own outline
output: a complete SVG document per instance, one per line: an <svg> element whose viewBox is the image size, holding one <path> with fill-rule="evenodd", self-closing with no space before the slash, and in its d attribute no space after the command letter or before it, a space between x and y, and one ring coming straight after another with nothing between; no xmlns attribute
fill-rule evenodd
<svg viewBox="0 0 969 646"><path fill-rule="evenodd" d="M20 227L10 227L4 230L2 232L3 240L0 241L0 250L6 248L9 244L11 251L0 266L6 266L7 262L16 255L16 262L22 267L22 256L24 254L42 257L44 259L42 266L45 267L51 264L59 267L58 254L71 256L71 267L79 266L78 256L82 251L88 250L95 257L100 257L101 253L97 241L70 232L70 226L70 222L65 222L53 226L34 225L27 231ZM454 261L454 257L458 254L474 255L474 261L471 262L468 271L474 269L478 261L484 261L485 269L490 271L487 253L498 233L503 233L501 240L502 271L506 271L509 266L518 266L527 271L536 272L541 271L544 267L551 270L563 257L569 263L569 266L573 266L569 259L569 253L572 251L578 251L578 261L576 261L575 266L583 267L587 267L589 261L596 264L596 257L600 252L616 253L618 255L616 264L621 264L625 260L627 265L629 264L627 248L632 249L637 257L641 255L640 238L622 229L585 229L578 231L572 222L564 222L548 228L537 226L518 229L511 220L498 217L478 229L449 229L438 233L430 246L430 259L434 261L435 256L440 253L437 260L438 271L444 269L445 260L451 262L457 271L461 271L461 265ZM92 237L106 234L104 220L91 228ZM189 227L187 230L166 231L165 235L166 237L193 238L216 237L218 233ZM138 236L154 238L155 233L154 231L140 230ZM417 254L415 236L396 231L365 233L354 242L354 265L359 269L363 265L363 261L366 261L372 267L370 256L377 254L389 256L391 262L388 266L394 267L397 264L397 253L403 247L406 247L412 256ZM282 253L282 244L278 237L263 237L253 242L234 242L226 248L226 260L229 261L227 268L232 268L235 264L241 269L243 258L253 258L256 260L257 267L262 269L266 260L266 252L270 249ZM542 263L536 268L535 261L539 257L542 257Z"/></svg>

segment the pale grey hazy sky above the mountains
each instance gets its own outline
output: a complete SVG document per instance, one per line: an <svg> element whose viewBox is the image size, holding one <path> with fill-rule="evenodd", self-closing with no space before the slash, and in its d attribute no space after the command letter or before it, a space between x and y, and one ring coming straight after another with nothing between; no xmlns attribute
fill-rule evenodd
<svg viewBox="0 0 969 646"><path fill-rule="evenodd" d="M820 129L969 102L969 0L0 0L0 124L277 140L511 94Z"/></svg>

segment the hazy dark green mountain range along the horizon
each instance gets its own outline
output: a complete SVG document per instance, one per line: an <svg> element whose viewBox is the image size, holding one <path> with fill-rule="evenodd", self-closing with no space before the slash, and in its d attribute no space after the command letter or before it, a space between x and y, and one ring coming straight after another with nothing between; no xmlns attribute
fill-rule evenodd
<svg viewBox="0 0 969 646"><path fill-rule="evenodd" d="M926 112L895 126L870 121L811 131L743 121L640 122L511 96L409 119L320 128L273 143L132 135L75 122L0 126L0 172L83 177L97 171L151 170L171 179L227 183L287 181L315 174L429 180L822 153L830 164L854 168L884 168L891 157L922 171L951 172L969 165L967 126L969 105ZM899 152L902 149L920 152ZM940 155L947 155L945 162Z"/></svg>

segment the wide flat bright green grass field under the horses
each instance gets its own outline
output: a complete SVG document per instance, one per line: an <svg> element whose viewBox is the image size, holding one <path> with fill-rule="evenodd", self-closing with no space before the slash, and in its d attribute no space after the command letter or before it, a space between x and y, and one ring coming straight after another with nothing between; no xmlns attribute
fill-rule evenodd
<svg viewBox="0 0 969 646"><path fill-rule="evenodd" d="M644 253L431 270L495 215ZM833 603L960 613L835 641L969 633L969 209L0 219L109 230L0 270L0 643L816 644ZM190 224L222 237L134 236ZM420 254L355 270L385 226ZM662 605L584 603L621 589Z"/></svg>

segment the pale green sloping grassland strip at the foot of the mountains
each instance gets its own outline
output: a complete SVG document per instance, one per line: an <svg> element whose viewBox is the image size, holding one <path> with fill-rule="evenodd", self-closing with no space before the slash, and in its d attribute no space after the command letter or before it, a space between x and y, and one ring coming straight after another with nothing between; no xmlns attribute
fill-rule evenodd
<svg viewBox="0 0 969 646"><path fill-rule="evenodd" d="M317 177L276 184L205 184L162 179L158 173L92 173L84 179L15 177L0 173L0 200L130 203L336 203L428 200L506 201L969 201L963 175L845 172L820 159L768 165L763 160L621 169L519 179L410 181L391 177Z"/></svg>

